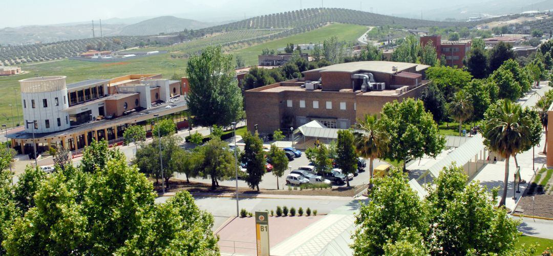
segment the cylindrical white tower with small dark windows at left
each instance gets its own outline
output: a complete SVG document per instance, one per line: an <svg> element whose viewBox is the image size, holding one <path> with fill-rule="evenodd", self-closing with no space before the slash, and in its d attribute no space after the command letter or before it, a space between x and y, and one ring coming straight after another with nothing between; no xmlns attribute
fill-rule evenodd
<svg viewBox="0 0 553 256"><path fill-rule="evenodd" d="M68 129L71 125L65 76L33 77L19 80L25 132L45 133ZM27 121L36 124L27 125Z"/></svg>

